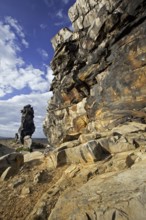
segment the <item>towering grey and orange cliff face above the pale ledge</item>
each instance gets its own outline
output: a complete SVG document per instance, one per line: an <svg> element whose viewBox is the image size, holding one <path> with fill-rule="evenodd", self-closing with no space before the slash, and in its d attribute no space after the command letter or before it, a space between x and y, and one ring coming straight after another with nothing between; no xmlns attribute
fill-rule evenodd
<svg viewBox="0 0 146 220"><path fill-rule="evenodd" d="M44 121L50 144L146 122L146 2L77 0L74 32L53 39L53 97Z"/></svg>

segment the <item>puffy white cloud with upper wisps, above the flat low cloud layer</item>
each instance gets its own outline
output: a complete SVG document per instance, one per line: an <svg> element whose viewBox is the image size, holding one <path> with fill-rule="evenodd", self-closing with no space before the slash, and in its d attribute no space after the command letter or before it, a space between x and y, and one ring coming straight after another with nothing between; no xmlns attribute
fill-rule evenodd
<svg viewBox="0 0 146 220"><path fill-rule="evenodd" d="M0 22L0 97L25 87L32 92L48 91L49 82L45 78L46 73L32 65L26 65L23 58L19 56L21 47L18 44L16 32L25 44L22 27L11 17L5 20L7 23ZM48 57L45 50L40 49L40 54L44 58Z"/></svg>

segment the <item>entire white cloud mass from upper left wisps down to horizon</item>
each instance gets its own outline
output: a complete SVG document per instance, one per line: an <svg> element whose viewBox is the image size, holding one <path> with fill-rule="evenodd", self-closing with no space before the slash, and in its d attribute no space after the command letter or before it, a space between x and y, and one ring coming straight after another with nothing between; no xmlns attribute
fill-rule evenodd
<svg viewBox="0 0 146 220"><path fill-rule="evenodd" d="M42 71L25 62L20 56L28 43L18 21L6 17L0 21L0 97L11 94L10 99L0 100L0 136L14 137L20 126L20 110L31 104L35 111L36 131L34 137L43 137L42 123L46 114L47 101L51 97L49 85L52 80L50 67ZM47 56L47 52L41 50ZM26 89L30 94L22 94ZM15 95L14 92L19 94Z"/></svg>

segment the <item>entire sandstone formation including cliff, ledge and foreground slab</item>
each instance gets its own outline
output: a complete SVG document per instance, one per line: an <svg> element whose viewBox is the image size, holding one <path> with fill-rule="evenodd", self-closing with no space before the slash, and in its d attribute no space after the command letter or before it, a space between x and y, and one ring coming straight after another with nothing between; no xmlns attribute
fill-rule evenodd
<svg viewBox="0 0 146 220"><path fill-rule="evenodd" d="M69 167L27 219L144 220L146 2L77 0L69 17L43 126L48 167Z"/></svg>

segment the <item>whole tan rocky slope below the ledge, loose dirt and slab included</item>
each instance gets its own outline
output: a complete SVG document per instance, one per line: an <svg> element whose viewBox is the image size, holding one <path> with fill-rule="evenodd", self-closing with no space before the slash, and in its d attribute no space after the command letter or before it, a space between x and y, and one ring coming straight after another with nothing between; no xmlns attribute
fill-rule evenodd
<svg viewBox="0 0 146 220"><path fill-rule="evenodd" d="M57 169L27 153L17 175L1 176L0 219L145 220L145 170L145 147Z"/></svg>

